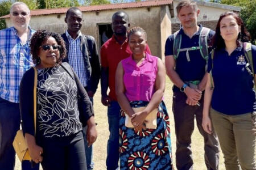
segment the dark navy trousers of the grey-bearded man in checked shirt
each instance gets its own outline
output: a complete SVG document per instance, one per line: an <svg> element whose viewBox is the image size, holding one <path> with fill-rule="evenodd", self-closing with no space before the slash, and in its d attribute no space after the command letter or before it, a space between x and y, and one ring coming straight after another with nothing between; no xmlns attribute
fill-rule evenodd
<svg viewBox="0 0 256 170"><path fill-rule="evenodd" d="M15 165L13 140L20 126L19 104L0 97L0 169L11 170ZM31 169L28 161L22 162L22 169ZM35 169L39 169L39 164Z"/></svg>

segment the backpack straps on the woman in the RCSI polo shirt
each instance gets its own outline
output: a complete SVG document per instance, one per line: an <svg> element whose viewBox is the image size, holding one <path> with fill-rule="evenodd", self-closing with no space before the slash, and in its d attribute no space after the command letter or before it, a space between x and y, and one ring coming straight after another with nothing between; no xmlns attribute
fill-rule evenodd
<svg viewBox="0 0 256 170"><path fill-rule="evenodd" d="M243 50L245 51L245 57L247 59L247 63L245 65L246 70L248 71L251 76L254 78L254 69L253 69L253 53L251 52L251 43L250 42L243 42ZM212 69L213 69L213 58L214 58L214 49L212 49L212 54L210 56L212 58ZM251 70L249 69L251 67ZM213 77L212 77L212 69L210 70L210 89L213 90ZM254 82L254 90L256 91L256 82Z"/></svg>

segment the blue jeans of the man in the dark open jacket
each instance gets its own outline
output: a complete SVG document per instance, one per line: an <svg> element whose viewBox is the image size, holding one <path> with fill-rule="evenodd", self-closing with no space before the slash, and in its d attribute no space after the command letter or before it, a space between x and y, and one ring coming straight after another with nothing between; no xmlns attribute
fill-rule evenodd
<svg viewBox="0 0 256 170"><path fill-rule="evenodd" d="M93 105L93 97L89 97L90 101L92 102ZM86 163L87 163L87 169L92 170L94 167L94 162L93 162L93 145L88 147L88 143L86 140L86 130L87 126L82 128L82 134L84 135L84 146L85 146L85 155L86 155Z"/></svg>

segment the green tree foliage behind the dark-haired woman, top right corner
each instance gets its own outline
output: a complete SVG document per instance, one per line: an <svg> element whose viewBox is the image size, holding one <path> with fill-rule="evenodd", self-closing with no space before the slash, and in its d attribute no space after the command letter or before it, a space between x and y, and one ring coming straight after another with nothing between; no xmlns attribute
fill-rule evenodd
<svg viewBox="0 0 256 170"><path fill-rule="evenodd" d="M214 0L213 0L214 1ZM216 1L216 0L215 0ZM220 0L218 0L220 1ZM240 16L251 35L251 42L256 40L256 0L221 0L220 3L241 7Z"/></svg>

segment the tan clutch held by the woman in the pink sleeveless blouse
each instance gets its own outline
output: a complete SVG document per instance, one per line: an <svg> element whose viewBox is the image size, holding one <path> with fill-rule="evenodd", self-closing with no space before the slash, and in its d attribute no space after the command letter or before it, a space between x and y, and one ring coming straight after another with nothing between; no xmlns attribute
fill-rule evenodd
<svg viewBox="0 0 256 170"><path fill-rule="evenodd" d="M139 107L139 108L133 108L133 111L135 113L141 112L146 107ZM156 122L156 114L158 113L158 109L155 108L148 116L146 117L146 128L147 129L156 129L157 128L157 122ZM133 124L131 123L131 118L125 113L125 126L127 128L134 128Z"/></svg>

